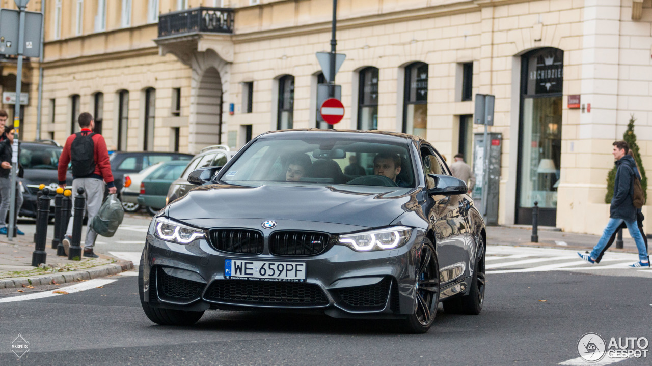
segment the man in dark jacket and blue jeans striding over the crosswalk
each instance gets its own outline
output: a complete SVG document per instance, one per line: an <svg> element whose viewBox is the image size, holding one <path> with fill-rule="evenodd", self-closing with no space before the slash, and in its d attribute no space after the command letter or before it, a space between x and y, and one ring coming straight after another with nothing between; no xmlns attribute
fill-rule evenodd
<svg viewBox="0 0 652 366"><path fill-rule="evenodd" d="M630 265L632 268L650 268L649 258L647 257L647 248L643 236L636 225L636 207L634 207L634 178L640 179L636 162L632 156L628 155L629 145L625 141L616 141L614 144L614 158L617 170L614 182L614 198L610 208L610 219L607 227L604 228L598 244L593 247L590 254L578 253L582 259L591 264L600 256L600 252L606 246L609 238L625 222L629 234L636 242L638 248L639 261Z"/></svg>

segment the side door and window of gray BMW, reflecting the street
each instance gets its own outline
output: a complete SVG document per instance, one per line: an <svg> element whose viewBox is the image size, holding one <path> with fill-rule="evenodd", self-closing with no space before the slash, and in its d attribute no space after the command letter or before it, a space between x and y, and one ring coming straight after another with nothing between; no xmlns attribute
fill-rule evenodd
<svg viewBox="0 0 652 366"><path fill-rule="evenodd" d="M420 152L426 184L428 188L434 188L434 180L427 176L428 173L437 175L451 175L451 173L441 156L430 145L421 145ZM432 199L432 204L429 206L427 217L435 230L440 278L443 283L446 283L458 279L467 270L466 207L462 195L429 195L429 197Z"/></svg>

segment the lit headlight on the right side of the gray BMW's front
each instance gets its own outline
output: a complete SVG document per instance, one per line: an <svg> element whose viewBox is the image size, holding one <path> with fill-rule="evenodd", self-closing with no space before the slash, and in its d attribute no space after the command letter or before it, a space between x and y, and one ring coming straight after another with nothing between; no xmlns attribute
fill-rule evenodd
<svg viewBox="0 0 652 366"><path fill-rule="evenodd" d="M387 227L341 235L338 244L351 247L355 251L394 249L406 244L411 233L410 227Z"/></svg>

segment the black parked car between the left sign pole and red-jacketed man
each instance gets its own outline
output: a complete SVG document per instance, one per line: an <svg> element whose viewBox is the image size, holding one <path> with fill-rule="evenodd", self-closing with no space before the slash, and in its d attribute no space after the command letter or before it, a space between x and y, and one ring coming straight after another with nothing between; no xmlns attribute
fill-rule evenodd
<svg viewBox="0 0 652 366"><path fill-rule="evenodd" d="M45 184L50 189L59 187L57 167L63 148L53 141L50 142L23 142L20 143L20 163L23 166L23 205L20 216L28 218L37 217L38 186ZM66 184L72 188L72 175L70 170L66 175ZM54 208L50 208L50 215L54 215Z"/></svg>

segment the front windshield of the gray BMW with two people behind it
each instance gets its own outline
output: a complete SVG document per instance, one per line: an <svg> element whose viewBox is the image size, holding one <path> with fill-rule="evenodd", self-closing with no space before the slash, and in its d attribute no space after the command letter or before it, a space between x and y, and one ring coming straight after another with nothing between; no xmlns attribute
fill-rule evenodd
<svg viewBox="0 0 652 366"><path fill-rule="evenodd" d="M259 139L224 172L230 184L413 187L408 143L310 137Z"/></svg>

